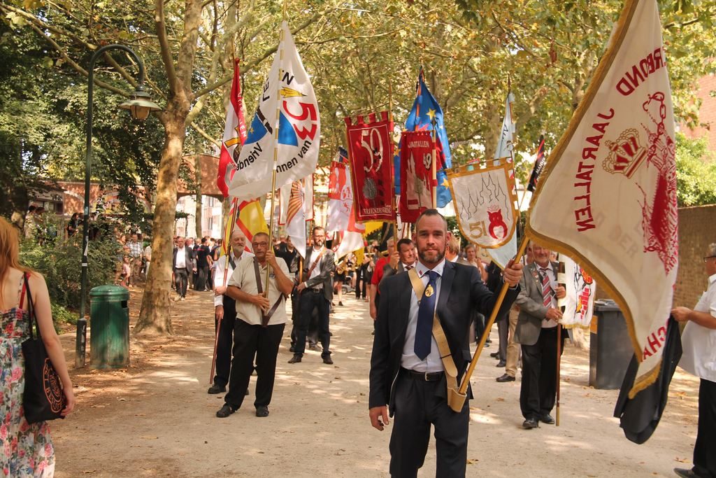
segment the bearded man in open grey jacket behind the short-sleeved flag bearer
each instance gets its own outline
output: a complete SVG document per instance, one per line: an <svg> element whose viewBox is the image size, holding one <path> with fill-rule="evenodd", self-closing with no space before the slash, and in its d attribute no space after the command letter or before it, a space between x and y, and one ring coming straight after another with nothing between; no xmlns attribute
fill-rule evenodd
<svg viewBox="0 0 716 478"><path fill-rule="evenodd" d="M323 346L321 358L323 363L333 364L331 350L331 332L329 330L329 317L331 300L333 299L333 279L331 272L336 268L333 260L333 251L324 245L326 231L320 226L313 229L313 247L306 251L302 279L296 290L301 295L301 312L299 313L299 330L294 345L294 356L289 363L299 363L306 350L306 335L309 329L309 320L314 307L319 314L319 339Z"/></svg>

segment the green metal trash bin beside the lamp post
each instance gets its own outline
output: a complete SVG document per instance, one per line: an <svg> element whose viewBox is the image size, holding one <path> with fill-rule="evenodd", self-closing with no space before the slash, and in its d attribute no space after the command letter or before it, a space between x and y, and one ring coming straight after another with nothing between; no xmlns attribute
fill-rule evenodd
<svg viewBox="0 0 716 478"><path fill-rule="evenodd" d="M94 368L130 364L130 291L100 285L89 291L89 353Z"/></svg>

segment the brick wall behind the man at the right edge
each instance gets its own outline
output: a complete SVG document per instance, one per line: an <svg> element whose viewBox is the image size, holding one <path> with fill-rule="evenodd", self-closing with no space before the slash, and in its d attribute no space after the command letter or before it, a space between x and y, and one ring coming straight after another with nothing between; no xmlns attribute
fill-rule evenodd
<svg viewBox="0 0 716 478"><path fill-rule="evenodd" d="M702 258L712 242L716 242L716 204L679 209L679 274L674 305L694 307L706 290Z"/></svg>

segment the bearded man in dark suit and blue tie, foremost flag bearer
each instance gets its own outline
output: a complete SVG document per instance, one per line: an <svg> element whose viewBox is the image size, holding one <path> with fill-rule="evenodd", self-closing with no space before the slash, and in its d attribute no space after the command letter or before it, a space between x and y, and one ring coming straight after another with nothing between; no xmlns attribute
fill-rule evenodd
<svg viewBox="0 0 716 478"><path fill-rule="evenodd" d="M391 416L395 414L390 437L392 476L417 476L432 424L437 477L463 477L470 408L468 401L459 413L448 406L444 365L432 337L433 314L437 313L447 337L460 383L471 358L470 312L477 308L490 313L497 296L483 285L476 267L445 260L450 234L441 214L428 209L415 226L419 257L415 271L425 289L420 297L416 296L410 279L412 271L395 274L380 285L382 299L371 357L369 416L372 426L383 430L388 423L388 408ZM505 268L505 281L511 290L500 310L508 310L517 296L521 269L521 264Z"/></svg>

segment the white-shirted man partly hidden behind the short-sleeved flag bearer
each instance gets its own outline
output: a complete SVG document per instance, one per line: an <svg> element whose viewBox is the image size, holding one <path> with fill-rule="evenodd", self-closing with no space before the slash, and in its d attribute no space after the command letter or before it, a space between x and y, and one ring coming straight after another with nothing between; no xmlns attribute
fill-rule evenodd
<svg viewBox="0 0 716 478"><path fill-rule="evenodd" d="M226 284L231 279L236 265L253 254L245 251L246 236L241 229L234 229L231 233L231 251L218 259L214 275L214 330L218 329L218 342L216 343L216 375L213 385L208 393L223 393L228 385L229 371L231 371L231 347L233 346L233 328L236 324L236 301L226 295ZM226 271L226 275L224 272ZM219 321L221 320L221 328Z"/></svg>

